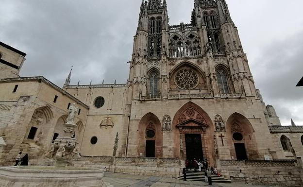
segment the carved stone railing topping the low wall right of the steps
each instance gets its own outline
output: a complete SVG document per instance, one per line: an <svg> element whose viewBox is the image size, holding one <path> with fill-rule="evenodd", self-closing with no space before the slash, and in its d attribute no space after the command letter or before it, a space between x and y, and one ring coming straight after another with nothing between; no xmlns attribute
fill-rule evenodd
<svg viewBox="0 0 303 187"><path fill-rule="evenodd" d="M222 166L297 167L296 160L221 160Z"/></svg>

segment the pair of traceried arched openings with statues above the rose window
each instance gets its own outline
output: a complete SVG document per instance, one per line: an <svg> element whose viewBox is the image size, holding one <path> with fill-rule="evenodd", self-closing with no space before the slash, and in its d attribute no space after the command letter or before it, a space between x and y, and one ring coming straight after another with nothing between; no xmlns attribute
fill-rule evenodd
<svg viewBox="0 0 303 187"><path fill-rule="evenodd" d="M169 40L169 56L171 58L201 56L198 36L190 33L183 39L178 34L173 35Z"/></svg>

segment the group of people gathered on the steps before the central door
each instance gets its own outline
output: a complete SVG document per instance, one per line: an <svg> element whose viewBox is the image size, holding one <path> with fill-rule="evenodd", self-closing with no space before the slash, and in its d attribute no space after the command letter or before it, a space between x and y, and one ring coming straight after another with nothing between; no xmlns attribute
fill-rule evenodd
<svg viewBox="0 0 303 187"><path fill-rule="evenodd" d="M205 183L208 182L208 185L212 185L212 174L219 175L217 168L209 168L207 160L199 160L197 161L188 161L185 160L186 168L183 168L183 180L186 181L186 171L194 169L196 171L204 171L204 181Z"/></svg>

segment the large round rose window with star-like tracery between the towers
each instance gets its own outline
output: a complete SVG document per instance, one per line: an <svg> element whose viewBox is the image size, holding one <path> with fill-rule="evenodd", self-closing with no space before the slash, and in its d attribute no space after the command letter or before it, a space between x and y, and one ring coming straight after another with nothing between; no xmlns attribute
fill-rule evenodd
<svg viewBox="0 0 303 187"><path fill-rule="evenodd" d="M175 83L181 89L193 89L198 85L199 78L194 70L183 68L176 73Z"/></svg>

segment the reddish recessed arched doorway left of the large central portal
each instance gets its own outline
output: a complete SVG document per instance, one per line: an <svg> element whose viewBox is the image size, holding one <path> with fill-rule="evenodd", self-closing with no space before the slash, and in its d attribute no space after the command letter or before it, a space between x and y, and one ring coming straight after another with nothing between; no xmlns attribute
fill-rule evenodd
<svg viewBox="0 0 303 187"><path fill-rule="evenodd" d="M162 158L163 134L160 120L148 113L139 122L138 149L140 156Z"/></svg>

